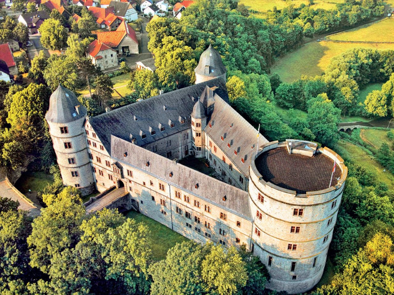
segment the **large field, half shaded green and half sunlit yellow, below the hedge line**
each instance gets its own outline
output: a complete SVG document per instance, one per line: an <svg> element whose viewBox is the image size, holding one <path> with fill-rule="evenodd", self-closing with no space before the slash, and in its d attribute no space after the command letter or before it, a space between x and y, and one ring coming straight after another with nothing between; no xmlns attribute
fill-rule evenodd
<svg viewBox="0 0 394 295"><path fill-rule="evenodd" d="M357 47L387 50L394 49L394 44L313 42L279 58L271 73L278 73L283 82L292 82L301 75L322 75L331 58Z"/></svg>

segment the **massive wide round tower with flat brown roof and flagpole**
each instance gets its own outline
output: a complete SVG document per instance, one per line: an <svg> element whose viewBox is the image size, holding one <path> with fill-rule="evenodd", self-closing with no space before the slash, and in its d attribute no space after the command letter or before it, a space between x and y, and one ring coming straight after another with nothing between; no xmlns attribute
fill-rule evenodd
<svg viewBox="0 0 394 295"><path fill-rule="evenodd" d="M306 292L324 271L347 167L331 149L286 140L264 145L249 173L253 251L271 276L267 288Z"/></svg>

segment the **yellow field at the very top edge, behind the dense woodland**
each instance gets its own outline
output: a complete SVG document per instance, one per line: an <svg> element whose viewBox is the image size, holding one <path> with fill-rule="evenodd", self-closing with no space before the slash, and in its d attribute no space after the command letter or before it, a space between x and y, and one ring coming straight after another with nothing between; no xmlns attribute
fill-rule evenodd
<svg viewBox="0 0 394 295"><path fill-rule="evenodd" d="M393 0L394 1L394 0ZM336 3L343 3L345 0L314 0L314 5L312 6L314 9L322 8L322 9L333 9L335 8ZM290 4L294 4L295 7L300 6L301 4L308 5L308 0L293 0L293 1L283 1L283 0L240 0L239 4L245 4L245 6L249 9L253 9L256 11L260 11L262 13L266 12L269 9L273 9L276 6L277 9L282 9Z"/></svg>

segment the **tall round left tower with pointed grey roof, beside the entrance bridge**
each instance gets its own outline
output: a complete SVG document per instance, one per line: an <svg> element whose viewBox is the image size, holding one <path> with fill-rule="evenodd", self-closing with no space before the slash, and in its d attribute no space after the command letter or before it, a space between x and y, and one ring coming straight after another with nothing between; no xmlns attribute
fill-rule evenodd
<svg viewBox="0 0 394 295"><path fill-rule="evenodd" d="M84 129L86 114L75 94L59 85L45 115L63 184L77 187L84 196L95 189Z"/></svg>

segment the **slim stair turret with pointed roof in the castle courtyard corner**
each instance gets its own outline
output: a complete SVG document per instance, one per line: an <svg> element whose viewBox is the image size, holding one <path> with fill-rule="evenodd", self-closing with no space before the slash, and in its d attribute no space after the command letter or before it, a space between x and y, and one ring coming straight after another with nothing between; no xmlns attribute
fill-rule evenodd
<svg viewBox="0 0 394 295"><path fill-rule="evenodd" d="M203 103L198 100L193 106L191 113L191 133L193 136L193 148L196 158L203 158L205 155L204 128L206 127L206 110Z"/></svg>

